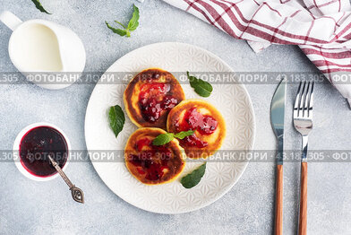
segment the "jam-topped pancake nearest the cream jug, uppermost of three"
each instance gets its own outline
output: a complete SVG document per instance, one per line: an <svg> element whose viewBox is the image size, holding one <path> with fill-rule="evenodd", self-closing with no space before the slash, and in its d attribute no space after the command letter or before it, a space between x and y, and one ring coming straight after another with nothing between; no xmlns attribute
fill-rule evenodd
<svg viewBox="0 0 351 235"><path fill-rule="evenodd" d="M184 99L175 76L159 68L141 71L124 91L125 110L138 127L166 129L169 111Z"/></svg>

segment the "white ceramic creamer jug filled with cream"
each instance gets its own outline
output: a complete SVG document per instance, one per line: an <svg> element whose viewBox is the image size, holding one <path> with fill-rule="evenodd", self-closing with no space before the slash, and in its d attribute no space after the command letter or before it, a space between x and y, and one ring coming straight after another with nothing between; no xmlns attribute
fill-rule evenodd
<svg viewBox="0 0 351 235"><path fill-rule="evenodd" d="M7 11L0 14L0 21L13 30L9 41L13 65L30 82L62 89L80 77L86 54L73 30L39 19L21 22Z"/></svg>

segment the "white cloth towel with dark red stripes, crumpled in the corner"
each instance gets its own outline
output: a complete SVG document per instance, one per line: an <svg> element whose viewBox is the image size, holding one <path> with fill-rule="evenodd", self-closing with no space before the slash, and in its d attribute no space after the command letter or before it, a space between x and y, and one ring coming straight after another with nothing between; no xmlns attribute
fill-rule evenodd
<svg viewBox="0 0 351 235"><path fill-rule="evenodd" d="M245 39L255 52L271 43L294 44L351 104L351 5L349 0L164 0ZM350 78L348 78L350 81Z"/></svg>

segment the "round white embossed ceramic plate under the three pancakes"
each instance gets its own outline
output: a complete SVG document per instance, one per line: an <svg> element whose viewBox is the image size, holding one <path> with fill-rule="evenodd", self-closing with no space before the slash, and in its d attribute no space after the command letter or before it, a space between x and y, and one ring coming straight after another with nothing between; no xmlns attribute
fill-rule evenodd
<svg viewBox="0 0 351 235"><path fill-rule="evenodd" d="M232 69L209 51L184 43L157 43L138 48L121 57L107 72L140 72L160 67L169 72L232 72ZM186 99L201 98L186 83L182 84ZM251 150L254 141L253 106L242 84L215 84L213 92L204 99L214 104L227 123L227 137L222 150ZM100 81L91 94L85 117L85 139L88 151L124 150L128 136L136 126L128 117L123 131L116 138L108 124L107 110L116 104L124 109L125 84L103 84ZM124 112L125 113L125 112ZM126 169L123 161L97 162L95 170L117 196L141 209L154 213L185 213L210 205L235 185L247 162L214 162L207 164L201 182L191 189L184 188L178 179L158 186L141 184ZM201 162L187 163L183 174ZM180 177L180 178L181 178Z"/></svg>

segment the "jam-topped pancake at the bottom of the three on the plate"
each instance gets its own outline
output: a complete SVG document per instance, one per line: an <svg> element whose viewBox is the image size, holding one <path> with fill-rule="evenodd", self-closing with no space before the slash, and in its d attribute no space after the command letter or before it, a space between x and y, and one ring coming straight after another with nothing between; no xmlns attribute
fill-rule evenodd
<svg viewBox="0 0 351 235"><path fill-rule="evenodd" d="M125 165L141 183L168 183L184 170L186 156L176 139L161 146L152 144L156 136L164 133L166 131L160 128L140 128L129 137L125 145Z"/></svg>

